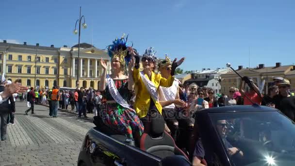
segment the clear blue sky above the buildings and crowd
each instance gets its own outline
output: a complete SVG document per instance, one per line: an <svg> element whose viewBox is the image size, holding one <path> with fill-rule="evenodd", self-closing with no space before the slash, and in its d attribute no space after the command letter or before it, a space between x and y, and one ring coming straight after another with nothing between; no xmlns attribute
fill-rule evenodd
<svg viewBox="0 0 295 166"><path fill-rule="evenodd" d="M5 0L0 39L42 46L73 46L79 6L82 42L104 49L129 34L142 54L186 57L181 68L274 66L295 63L295 0ZM250 49L249 49L250 48Z"/></svg>

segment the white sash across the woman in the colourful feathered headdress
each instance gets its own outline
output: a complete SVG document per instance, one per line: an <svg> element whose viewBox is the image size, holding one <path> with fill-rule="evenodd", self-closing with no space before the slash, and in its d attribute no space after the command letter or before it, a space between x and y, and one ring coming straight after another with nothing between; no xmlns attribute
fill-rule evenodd
<svg viewBox="0 0 295 166"><path fill-rule="evenodd" d="M109 75L107 75L107 85L110 91L110 94L112 95L113 99L120 104L122 107L124 108L128 108L132 111L134 111L131 106L122 98L122 96L120 95L120 93L118 92L118 89L115 86L114 80L112 78L110 78ZM135 111L134 111L135 112Z"/></svg>

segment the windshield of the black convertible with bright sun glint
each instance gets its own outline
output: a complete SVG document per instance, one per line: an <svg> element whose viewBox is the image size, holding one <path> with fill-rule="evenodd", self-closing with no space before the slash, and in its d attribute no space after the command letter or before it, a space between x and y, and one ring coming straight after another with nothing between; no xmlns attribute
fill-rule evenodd
<svg viewBox="0 0 295 166"><path fill-rule="evenodd" d="M295 165L295 123L280 112L212 113L210 117L235 165Z"/></svg>

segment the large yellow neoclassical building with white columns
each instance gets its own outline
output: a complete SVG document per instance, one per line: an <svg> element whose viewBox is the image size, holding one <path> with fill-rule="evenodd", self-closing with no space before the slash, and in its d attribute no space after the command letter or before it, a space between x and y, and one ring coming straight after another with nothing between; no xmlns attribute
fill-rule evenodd
<svg viewBox="0 0 295 166"><path fill-rule="evenodd" d="M90 44L80 44L71 48L55 48L36 45L0 42L0 73L12 81L20 78L23 85L49 87L59 85L76 86L77 74L79 86L98 88L102 73L100 59L103 59L110 73L110 58L106 50L100 50ZM79 63L79 73L78 73ZM36 73L36 74L35 74Z"/></svg>

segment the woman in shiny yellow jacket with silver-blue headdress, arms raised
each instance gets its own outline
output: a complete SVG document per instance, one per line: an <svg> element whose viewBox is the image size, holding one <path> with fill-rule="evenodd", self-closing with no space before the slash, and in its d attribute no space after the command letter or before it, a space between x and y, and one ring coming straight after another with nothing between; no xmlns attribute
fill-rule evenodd
<svg viewBox="0 0 295 166"><path fill-rule="evenodd" d="M156 51L153 48L146 49L142 57L143 71L139 71L140 57L136 51L133 50L132 54L135 54L135 66L133 68L133 80L137 86L136 99L134 108L137 115L141 118L144 123L145 130L148 132L148 119L150 113L158 111L162 115L162 106L159 103L158 88L160 86L170 87L174 82L174 75L176 67L180 66L184 61L181 58L178 62L175 59L171 66L171 74L168 78L162 77L161 74L155 74L154 69L156 68ZM147 128L147 129L146 129Z"/></svg>

